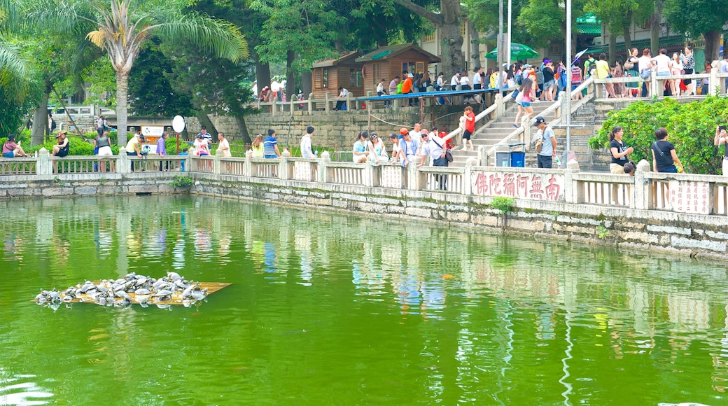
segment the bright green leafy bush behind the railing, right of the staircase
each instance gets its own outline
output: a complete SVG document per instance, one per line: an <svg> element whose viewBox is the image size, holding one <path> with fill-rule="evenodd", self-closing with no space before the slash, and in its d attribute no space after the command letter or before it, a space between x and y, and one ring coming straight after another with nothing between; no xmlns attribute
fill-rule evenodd
<svg viewBox="0 0 728 406"><path fill-rule="evenodd" d="M713 175L720 171L723 155L713 146L713 136L716 126L727 122L727 97L707 97L693 103L678 103L670 98L656 103L638 101L623 110L610 112L598 135L589 140L589 146L593 150L607 148L609 132L620 125L625 129L622 140L635 148L630 160L646 159L652 164L654 131L665 127L685 170Z"/></svg>

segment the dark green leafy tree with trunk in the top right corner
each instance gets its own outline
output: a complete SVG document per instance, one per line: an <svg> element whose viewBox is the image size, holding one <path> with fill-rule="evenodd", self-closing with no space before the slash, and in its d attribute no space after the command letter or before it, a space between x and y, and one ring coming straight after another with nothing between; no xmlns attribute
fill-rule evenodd
<svg viewBox="0 0 728 406"><path fill-rule="evenodd" d="M662 15L673 31L705 39L705 60L718 59L723 26L728 23L728 4L708 0L664 0Z"/></svg>

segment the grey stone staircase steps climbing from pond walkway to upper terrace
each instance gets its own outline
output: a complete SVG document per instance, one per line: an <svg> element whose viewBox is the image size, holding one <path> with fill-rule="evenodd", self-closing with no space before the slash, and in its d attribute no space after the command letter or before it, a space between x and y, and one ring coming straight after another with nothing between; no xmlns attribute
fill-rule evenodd
<svg viewBox="0 0 728 406"><path fill-rule="evenodd" d="M495 119L494 121L486 122L486 124L475 131L475 134L472 137L473 151L462 151L462 141L457 148L454 148L452 151L453 162L451 162L449 166L464 167L468 158L471 156L475 158L478 157L478 148L480 146L485 146L486 149L490 149L515 130L515 127L513 127L513 121L515 120L515 115L518 114L518 106L516 106L515 103L508 104L510 107L507 108L503 116L498 117L498 119ZM551 105L552 102L531 103L531 106L534 108L534 114L531 114L531 119L541 114L542 111ZM462 140L461 136L458 136L457 138L458 140ZM506 151L506 149L504 149L504 151ZM491 157L490 160L491 162L488 164L494 165L495 157Z"/></svg>

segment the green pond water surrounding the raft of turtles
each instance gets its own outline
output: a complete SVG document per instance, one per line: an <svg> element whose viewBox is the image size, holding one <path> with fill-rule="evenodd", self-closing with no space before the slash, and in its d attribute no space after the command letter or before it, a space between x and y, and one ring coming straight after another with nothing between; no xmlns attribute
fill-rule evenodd
<svg viewBox="0 0 728 406"><path fill-rule="evenodd" d="M0 405L727 405L727 266L208 197L0 202ZM41 288L177 271L201 306Z"/></svg>

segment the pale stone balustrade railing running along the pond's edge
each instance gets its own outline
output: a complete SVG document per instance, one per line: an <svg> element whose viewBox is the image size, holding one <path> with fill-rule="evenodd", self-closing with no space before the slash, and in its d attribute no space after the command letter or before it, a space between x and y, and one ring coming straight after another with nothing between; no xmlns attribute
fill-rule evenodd
<svg viewBox="0 0 728 406"><path fill-rule="evenodd" d="M419 161L419 158L416 159ZM0 159L0 175L103 175L180 171L201 176L225 176L254 183L296 182L304 188L331 186L388 188L459 196L506 196L543 202L662 210L697 215L728 215L728 178L718 175L649 172L638 164L635 176L580 172L569 162L566 170L518 167L483 167L473 161L465 167L402 167L393 162L355 164L283 156L280 159L218 158L216 156L138 157L122 154L55 158L41 150L37 158ZM95 166L97 165L97 166ZM132 165L134 170L132 171ZM103 170L101 169L103 168ZM47 178L47 176L39 177Z"/></svg>

